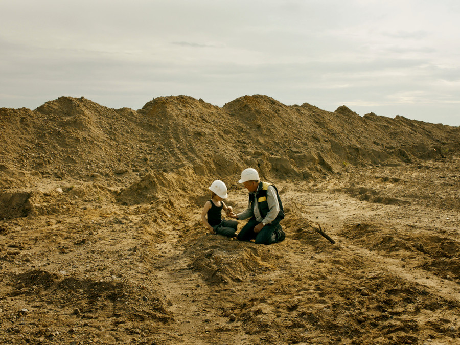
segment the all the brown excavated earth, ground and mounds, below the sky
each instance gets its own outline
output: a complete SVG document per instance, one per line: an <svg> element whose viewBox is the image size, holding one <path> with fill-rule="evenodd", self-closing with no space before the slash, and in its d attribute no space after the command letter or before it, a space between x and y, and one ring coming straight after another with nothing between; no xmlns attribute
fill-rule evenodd
<svg viewBox="0 0 460 345"><path fill-rule="evenodd" d="M2 343L460 343L460 127L60 97L0 109L0 133ZM280 191L282 243L201 224L215 179L246 207L248 167Z"/></svg>

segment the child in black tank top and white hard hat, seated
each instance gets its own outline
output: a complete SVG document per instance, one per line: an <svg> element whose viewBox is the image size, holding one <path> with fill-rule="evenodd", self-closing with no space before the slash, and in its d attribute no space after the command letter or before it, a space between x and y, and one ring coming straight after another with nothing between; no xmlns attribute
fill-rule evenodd
<svg viewBox="0 0 460 345"><path fill-rule="evenodd" d="M211 200L204 204L201 220L211 234L219 234L227 237L236 237L238 221L222 220L222 209L228 215L232 212L231 206L226 206L222 201L228 197L227 186L221 180L215 180L209 188L212 192ZM206 219L206 216L207 219Z"/></svg>

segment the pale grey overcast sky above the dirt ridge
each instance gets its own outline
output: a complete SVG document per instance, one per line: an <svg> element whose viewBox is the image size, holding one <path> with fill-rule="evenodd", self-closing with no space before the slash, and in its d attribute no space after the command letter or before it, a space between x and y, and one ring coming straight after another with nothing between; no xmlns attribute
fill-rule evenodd
<svg viewBox="0 0 460 345"><path fill-rule="evenodd" d="M460 126L458 0L0 0L0 107L262 94Z"/></svg>

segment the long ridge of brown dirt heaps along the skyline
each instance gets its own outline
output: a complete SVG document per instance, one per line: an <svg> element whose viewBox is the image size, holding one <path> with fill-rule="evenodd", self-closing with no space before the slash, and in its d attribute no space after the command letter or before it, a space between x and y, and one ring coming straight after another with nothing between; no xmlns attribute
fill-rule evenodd
<svg viewBox="0 0 460 345"><path fill-rule="evenodd" d="M257 166L266 177L303 179L350 164L442 157L460 147L457 127L361 118L347 109L286 106L254 95L222 108L188 96L160 97L134 111L60 97L33 111L0 109L0 149L7 153L0 164L83 181L96 175L120 182L202 164L222 178Z"/></svg>

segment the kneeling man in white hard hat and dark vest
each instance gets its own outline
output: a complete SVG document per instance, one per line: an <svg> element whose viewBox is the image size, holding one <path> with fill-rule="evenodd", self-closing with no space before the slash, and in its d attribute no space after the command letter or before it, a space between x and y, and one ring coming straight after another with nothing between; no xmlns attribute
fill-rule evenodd
<svg viewBox="0 0 460 345"><path fill-rule="evenodd" d="M284 240L286 235L280 225L284 218L283 204L275 186L261 182L257 170L248 168L241 173L244 188L249 191L248 208L241 213L231 213L235 219L250 218L238 234L238 240L256 240L256 243L271 244Z"/></svg>

